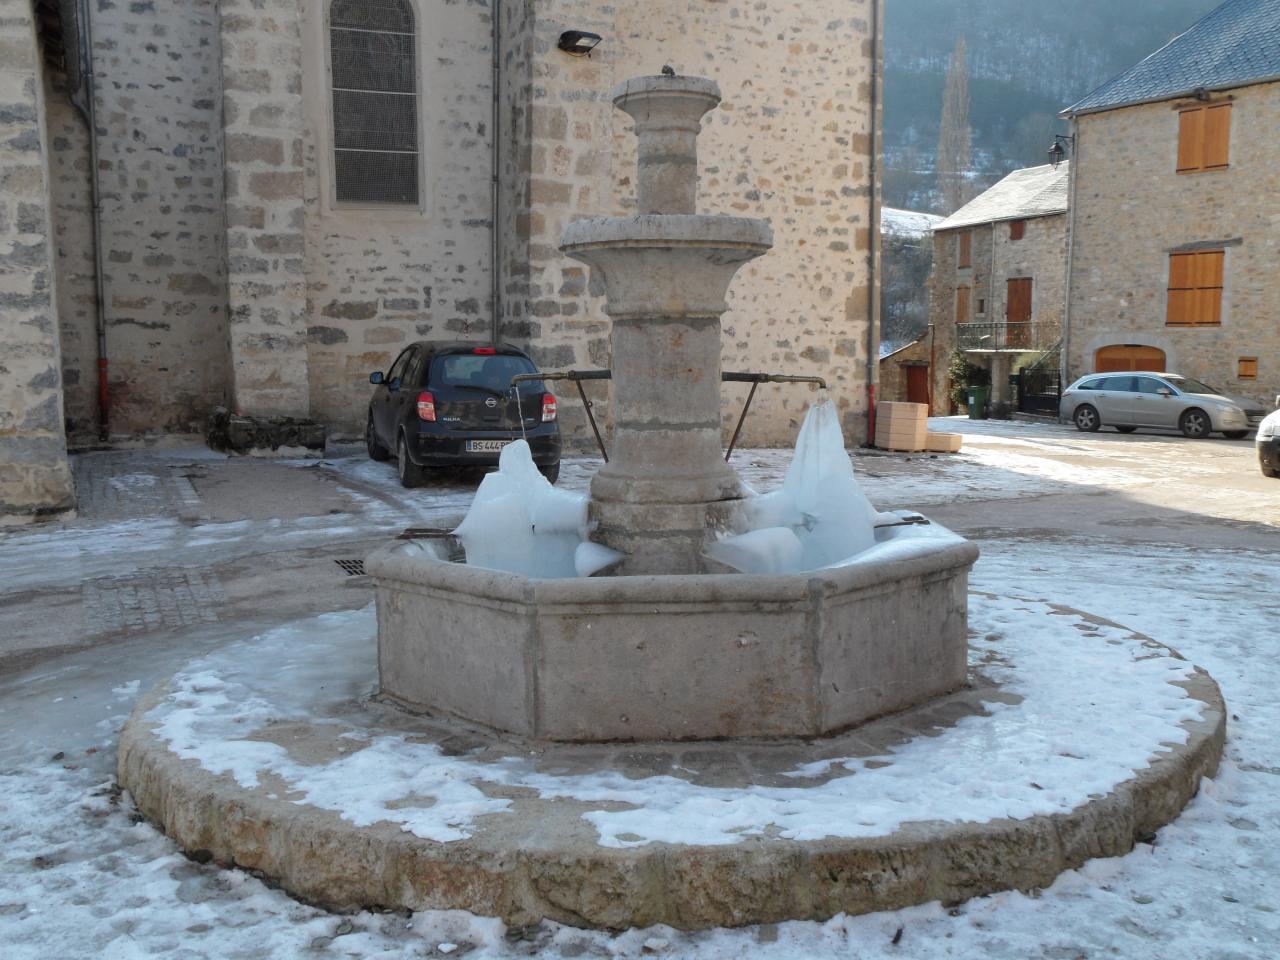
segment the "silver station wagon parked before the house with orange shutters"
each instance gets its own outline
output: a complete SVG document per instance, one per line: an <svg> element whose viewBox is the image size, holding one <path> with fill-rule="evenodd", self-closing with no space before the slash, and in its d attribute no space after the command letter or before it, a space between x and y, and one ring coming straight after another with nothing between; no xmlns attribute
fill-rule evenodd
<svg viewBox="0 0 1280 960"><path fill-rule="evenodd" d="M1114 426L1132 434L1148 426L1194 439L1220 433L1233 440L1244 439L1266 416L1254 401L1219 393L1189 376L1142 371L1082 376L1062 393L1059 413L1079 430Z"/></svg>

